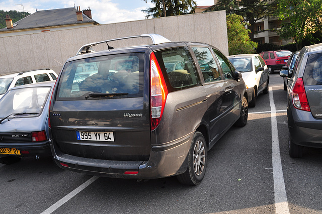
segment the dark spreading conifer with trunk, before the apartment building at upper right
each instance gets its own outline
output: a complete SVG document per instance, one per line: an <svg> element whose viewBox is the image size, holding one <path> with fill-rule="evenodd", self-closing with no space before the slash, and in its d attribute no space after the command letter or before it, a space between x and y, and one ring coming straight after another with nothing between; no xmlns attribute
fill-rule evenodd
<svg viewBox="0 0 322 214"><path fill-rule="evenodd" d="M276 7L275 0L219 0L216 5L205 12L225 10L227 15L237 14L242 16L249 23L250 37L254 41L256 29L253 29L253 26L255 26L255 22L277 15Z"/></svg>

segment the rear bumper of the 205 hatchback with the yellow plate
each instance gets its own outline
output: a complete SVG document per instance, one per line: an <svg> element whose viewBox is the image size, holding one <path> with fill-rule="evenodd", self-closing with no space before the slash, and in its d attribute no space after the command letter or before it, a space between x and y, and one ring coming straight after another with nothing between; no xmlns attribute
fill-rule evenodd
<svg viewBox="0 0 322 214"><path fill-rule="evenodd" d="M42 142L27 142L27 143L1 143L0 148L14 148L19 149L21 155L19 157L51 156L49 140ZM27 152L28 151L28 152ZM0 157L9 156L7 154L0 154Z"/></svg>

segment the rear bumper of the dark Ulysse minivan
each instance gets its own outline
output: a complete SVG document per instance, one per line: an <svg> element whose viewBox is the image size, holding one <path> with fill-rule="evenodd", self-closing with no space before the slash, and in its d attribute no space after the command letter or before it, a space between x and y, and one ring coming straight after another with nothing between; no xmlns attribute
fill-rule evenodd
<svg viewBox="0 0 322 214"><path fill-rule="evenodd" d="M51 152L63 169L112 178L154 179L184 173L193 133L161 146L152 146L148 161L83 158L62 153L51 139Z"/></svg>

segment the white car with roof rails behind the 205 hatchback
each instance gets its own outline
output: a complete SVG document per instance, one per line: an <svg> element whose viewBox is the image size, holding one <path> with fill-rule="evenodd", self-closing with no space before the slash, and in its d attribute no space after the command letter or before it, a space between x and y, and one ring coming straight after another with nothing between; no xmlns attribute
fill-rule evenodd
<svg viewBox="0 0 322 214"><path fill-rule="evenodd" d="M10 88L36 82L56 80L57 76L55 71L51 69L24 71L11 74L0 73L0 99Z"/></svg>

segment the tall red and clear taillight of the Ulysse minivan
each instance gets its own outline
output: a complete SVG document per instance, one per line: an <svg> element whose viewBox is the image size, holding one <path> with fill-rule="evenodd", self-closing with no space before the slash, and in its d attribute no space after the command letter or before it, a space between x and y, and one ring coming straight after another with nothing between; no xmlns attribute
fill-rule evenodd
<svg viewBox="0 0 322 214"><path fill-rule="evenodd" d="M161 118L165 108L168 89L162 75L160 66L154 53L150 55L150 111L151 130L154 130Z"/></svg>

